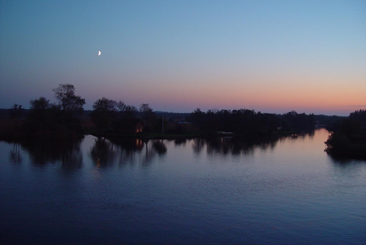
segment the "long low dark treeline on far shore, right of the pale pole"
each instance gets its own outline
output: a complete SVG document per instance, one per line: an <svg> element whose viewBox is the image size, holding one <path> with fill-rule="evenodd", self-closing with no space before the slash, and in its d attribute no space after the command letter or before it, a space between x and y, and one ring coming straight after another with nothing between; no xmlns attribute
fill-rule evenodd
<svg viewBox="0 0 366 245"><path fill-rule="evenodd" d="M282 115L255 112L250 109L195 109L189 119L206 133L227 131L238 134L264 134L274 131L299 131L315 127L315 115L290 111Z"/></svg>

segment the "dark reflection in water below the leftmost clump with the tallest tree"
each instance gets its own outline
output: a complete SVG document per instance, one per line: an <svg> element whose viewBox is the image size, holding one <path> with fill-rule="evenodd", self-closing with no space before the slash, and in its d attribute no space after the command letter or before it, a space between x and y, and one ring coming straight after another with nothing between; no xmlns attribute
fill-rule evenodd
<svg viewBox="0 0 366 245"><path fill-rule="evenodd" d="M20 144L22 150L29 154L32 164L42 165L47 163L61 162L64 168L80 168L83 156L80 144L83 138L57 139L57 140L28 140ZM19 148L18 148L19 153ZM10 152L13 158L13 152Z"/></svg>

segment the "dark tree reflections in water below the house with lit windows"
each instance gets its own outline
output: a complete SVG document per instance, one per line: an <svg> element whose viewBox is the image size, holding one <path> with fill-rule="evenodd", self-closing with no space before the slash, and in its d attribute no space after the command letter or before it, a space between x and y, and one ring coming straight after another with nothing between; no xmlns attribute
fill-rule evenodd
<svg viewBox="0 0 366 245"><path fill-rule="evenodd" d="M141 163L149 166L156 153L167 152L165 144L158 140L136 138L97 138L90 149L90 158L96 166L120 166Z"/></svg>

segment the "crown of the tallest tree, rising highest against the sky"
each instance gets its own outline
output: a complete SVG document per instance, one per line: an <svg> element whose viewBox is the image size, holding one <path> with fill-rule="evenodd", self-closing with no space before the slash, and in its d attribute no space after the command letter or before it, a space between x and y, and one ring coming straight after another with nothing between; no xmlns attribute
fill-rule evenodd
<svg viewBox="0 0 366 245"><path fill-rule="evenodd" d="M85 99L79 95L75 95L75 86L69 83L60 83L57 88L52 89L55 97L59 102L63 111L83 110Z"/></svg>

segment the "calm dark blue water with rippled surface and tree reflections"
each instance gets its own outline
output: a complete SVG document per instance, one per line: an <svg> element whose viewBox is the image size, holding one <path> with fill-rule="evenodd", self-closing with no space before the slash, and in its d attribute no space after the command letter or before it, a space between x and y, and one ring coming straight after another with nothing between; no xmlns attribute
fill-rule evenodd
<svg viewBox="0 0 366 245"><path fill-rule="evenodd" d="M2 141L0 242L365 244L366 162L327 136Z"/></svg>

